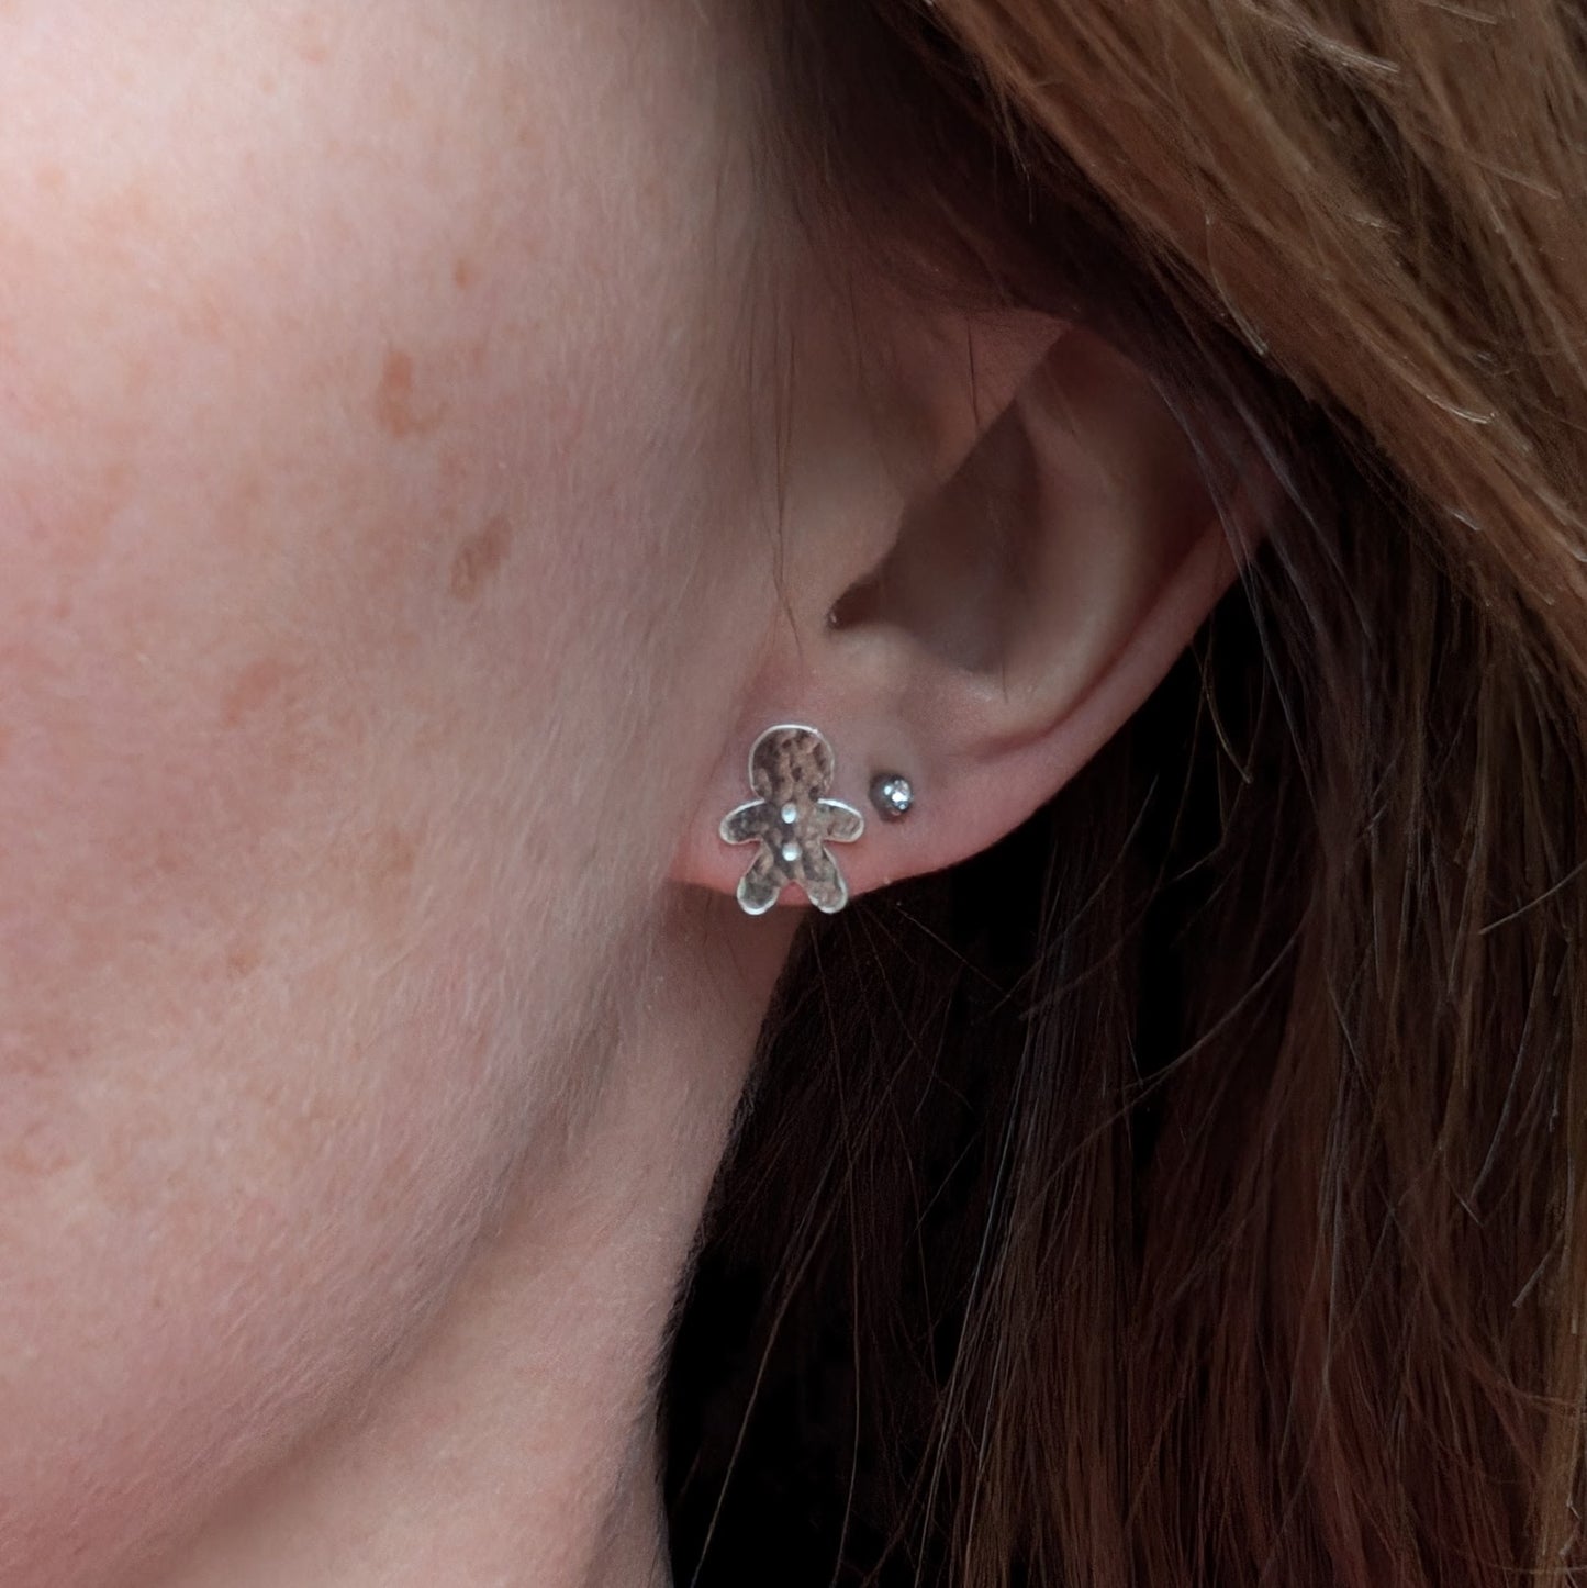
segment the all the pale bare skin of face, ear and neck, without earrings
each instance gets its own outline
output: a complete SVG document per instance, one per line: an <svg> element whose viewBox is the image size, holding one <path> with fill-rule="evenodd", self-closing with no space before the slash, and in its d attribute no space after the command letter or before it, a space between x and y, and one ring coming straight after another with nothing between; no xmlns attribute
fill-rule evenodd
<svg viewBox="0 0 1587 1588"><path fill-rule="evenodd" d="M747 746L910 773L853 894L952 864L1231 576L1083 333L837 313L767 81L696 0L0 0L0 1582L664 1582L801 918L732 900Z"/></svg>

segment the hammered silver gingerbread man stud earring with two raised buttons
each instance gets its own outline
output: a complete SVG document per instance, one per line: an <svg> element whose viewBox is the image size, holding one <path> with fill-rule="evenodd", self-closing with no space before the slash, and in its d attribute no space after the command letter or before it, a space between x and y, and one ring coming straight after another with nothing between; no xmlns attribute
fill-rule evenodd
<svg viewBox="0 0 1587 1588"><path fill-rule="evenodd" d="M828 845L853 843L866 818L853 805L826 799L836 770L832 746L813 727L783 723L755 742L750 788L759 799L721 819L728 843L759 843L739 880L745 915L764 915L790 883L828 915L848 904L848 885Z"/></svg>

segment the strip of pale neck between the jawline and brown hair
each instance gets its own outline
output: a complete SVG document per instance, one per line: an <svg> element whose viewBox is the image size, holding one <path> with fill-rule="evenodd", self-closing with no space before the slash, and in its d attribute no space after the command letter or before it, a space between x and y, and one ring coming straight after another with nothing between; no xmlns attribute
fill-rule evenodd
<svg viewBox="0 0 1587 1588"><path fill-rule="evenodd" d="M793 935L689 900L599 1099L531 1166L423 1340L159 1588L658 1588L667 1324ZM731 946L729 946L731 943Z"/></svg>

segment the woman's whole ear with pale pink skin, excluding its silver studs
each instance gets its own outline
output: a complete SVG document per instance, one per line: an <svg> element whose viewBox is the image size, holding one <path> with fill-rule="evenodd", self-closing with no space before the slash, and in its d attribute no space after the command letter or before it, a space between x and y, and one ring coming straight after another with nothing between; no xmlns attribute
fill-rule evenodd
<svg viewBox="0 0 1587 1588"><path fill-rule="evenodd" d="M780 599L680 880L732 892L755 859L718 824L755 799L750 746L777 723L826 735L831 797L866 815L832 851L850 896L987 848L1128 721L1260 540L1276 488L1255 448L1188 434L1096 335L1020 316L967 345L894 360L917 411L883 429L912 437L907 457L893 445L874 476L828 459L842 484L790 515ZM869 800L882 773L913 791L901 821Z"/></svg>

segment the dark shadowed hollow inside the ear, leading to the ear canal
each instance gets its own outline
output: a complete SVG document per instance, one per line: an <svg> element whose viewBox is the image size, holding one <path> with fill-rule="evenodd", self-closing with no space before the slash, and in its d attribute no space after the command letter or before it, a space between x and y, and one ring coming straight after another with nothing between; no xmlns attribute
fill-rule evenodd
<svg viewBox="0 0 1587 1588"><path fill-rule="evenodd" d="M1020 403L987 429L948 481L909 508L877 567L836 602L836 630L905 630L939 661L996 672L1028 621L1041 529L1041 464Z"/></svg>

